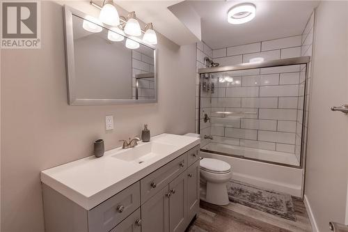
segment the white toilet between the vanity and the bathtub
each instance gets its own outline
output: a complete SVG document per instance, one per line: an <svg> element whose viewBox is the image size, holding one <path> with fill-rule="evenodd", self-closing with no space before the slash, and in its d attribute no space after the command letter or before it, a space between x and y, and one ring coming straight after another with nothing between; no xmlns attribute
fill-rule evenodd
<svg viewBox="0 0 348 232"><path fill-rule="evenodd" d="M232 178L231 166L222 160L200 160L200 199L219 206L228 205L227 183Z"/></svg>

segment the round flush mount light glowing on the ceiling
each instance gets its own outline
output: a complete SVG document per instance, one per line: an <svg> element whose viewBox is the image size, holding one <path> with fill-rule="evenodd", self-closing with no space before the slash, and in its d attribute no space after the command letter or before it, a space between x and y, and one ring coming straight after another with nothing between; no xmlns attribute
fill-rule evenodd
<svg viewBox="0 0 348 232"><path fill-rule="evenodd" d="M242 3L228 10L227 20L230 24L244 24L253 20L256 7L253 3Z"/></svg>

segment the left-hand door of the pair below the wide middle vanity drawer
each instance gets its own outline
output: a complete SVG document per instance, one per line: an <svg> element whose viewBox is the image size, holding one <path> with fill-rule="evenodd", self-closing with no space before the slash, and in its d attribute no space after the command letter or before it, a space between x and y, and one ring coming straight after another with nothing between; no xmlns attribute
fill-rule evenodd
<svg viewBox="0 0 348 232"><path fill-rule="evenodd" d="M141 232L168 232L168 185L141 206Z"/></svg>

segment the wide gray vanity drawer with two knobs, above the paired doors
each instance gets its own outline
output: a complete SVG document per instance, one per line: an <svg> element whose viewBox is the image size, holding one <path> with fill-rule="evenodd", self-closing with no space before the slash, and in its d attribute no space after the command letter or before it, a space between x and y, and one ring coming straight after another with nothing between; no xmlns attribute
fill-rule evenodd
<svg viewBox="0 0 348 232"><path fill-rule="evenodd" d="M141 203L148 201L185 169L187 169L186 153L141 179Z"/></svg>

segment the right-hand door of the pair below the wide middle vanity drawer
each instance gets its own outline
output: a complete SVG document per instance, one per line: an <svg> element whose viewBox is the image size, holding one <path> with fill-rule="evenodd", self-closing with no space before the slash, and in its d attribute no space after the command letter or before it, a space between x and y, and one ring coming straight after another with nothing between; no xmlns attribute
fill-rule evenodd
<svg viewBox="0 0 348 232"><path fill-rule="evenodd" d="M186 229L187 222L187 173L184 172L169 183L169 231Z"/></svg>

